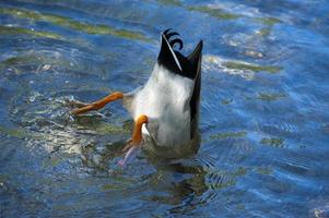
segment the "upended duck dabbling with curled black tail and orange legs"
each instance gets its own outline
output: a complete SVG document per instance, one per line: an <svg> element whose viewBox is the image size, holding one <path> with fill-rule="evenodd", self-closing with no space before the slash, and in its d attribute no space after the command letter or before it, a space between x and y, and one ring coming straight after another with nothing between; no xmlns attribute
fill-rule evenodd
<svg viewBox="0 0 329 218"><path fill-rule="evenodd" d="M188 56L180 52L183 47L180 35L172 28L165 29L161 33L157 61L143 86L130 93L114 92L91 104L79 104L71 113L80 116L121 100L133 119L131 140L122 149L125 161L139 147L168 158L196 153L200 141L203 43L200 40Z"/></svg>

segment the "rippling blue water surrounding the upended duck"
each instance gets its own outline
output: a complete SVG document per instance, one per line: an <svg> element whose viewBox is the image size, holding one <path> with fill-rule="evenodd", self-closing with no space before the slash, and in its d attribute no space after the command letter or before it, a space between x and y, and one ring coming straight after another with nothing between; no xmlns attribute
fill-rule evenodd
<svg viewBox="0 0 329 218"><path fill-rule="evenodd" d="M0 217L329 217L325 0L1 1ZM204 41L196 157L117 167L160 33Z"/></svg>

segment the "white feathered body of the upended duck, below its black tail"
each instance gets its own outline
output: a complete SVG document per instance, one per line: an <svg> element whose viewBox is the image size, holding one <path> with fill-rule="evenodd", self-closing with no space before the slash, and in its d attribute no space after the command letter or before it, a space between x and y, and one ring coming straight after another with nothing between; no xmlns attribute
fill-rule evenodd
<svg viewBox="0 0 329 218"><path fill-rule="evenodd" d="M146 84L132 94L127 106L134 120L149 117L148 130L158 146L180 145L190 140L190 98L193 81L155 64ZM143 125L143 134L148 134Z"/></svg>

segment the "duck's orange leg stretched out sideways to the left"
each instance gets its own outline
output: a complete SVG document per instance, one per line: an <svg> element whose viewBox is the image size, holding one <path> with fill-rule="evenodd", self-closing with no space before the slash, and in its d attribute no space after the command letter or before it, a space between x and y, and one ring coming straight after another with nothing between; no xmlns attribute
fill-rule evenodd
<svg viewBox="0 0 329 218"><path fill-rule="evenodd" d="M110 101L114 101L114 100L117 100L117 99L121 99L121 98L124 98L124 94L119 93L119 92L116 92L116 93L113 93L113 94L106 96L105 98L103 98L101 100L97 100L97 101L92 102L92 104L87 104L82 108L73 109L71 111L71 113L80 114L80 113L85 113L85 112L91 111L91 110L99 110L101 108L104 108L104 106L106 106L106 104L108 104Z"/></svg>

